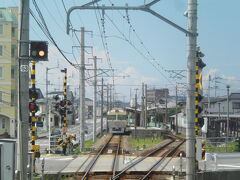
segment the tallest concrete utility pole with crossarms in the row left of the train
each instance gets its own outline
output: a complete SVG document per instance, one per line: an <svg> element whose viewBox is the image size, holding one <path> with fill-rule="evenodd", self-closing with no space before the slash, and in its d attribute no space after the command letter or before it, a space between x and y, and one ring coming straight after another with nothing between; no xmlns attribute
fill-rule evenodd
<svg viewBox="0 0 240 180"><path fill-rule="evenodd" d="M79 117L81 120L80 124L80 151L84 149L84 141L85 141L85 133L84 133L84 125L85 125L85 57L84 57L84 27L81 27L81 63L79 66L80 72L80 83L79 83L79 99L80 99L80 107L79 107Z"/></svg>

